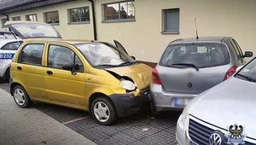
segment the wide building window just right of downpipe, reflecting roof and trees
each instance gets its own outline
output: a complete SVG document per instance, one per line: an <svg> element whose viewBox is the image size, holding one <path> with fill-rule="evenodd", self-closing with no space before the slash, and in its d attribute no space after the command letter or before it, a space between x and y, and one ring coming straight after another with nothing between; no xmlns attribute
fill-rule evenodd
<svg viewBox="0 0 256 145"><path fill-rule="evenodd" d="M126 1L104 4L104 20L135 20L135 2Z"/></svg>

